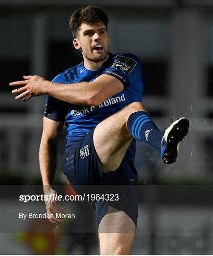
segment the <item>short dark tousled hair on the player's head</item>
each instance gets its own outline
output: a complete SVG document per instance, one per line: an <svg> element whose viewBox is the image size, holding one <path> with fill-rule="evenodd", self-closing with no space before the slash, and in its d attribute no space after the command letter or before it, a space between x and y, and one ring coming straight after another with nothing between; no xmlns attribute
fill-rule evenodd
<svg viewBox="0 0 213 256"><path fill-rule="evenodd" d="M74 11L69 18L69 27L72 30L73 36L76 37L77 30L81 27L82 23L96 24L97 22L102 22L107 29L109 18L99 6L89 5Z"/></svg>

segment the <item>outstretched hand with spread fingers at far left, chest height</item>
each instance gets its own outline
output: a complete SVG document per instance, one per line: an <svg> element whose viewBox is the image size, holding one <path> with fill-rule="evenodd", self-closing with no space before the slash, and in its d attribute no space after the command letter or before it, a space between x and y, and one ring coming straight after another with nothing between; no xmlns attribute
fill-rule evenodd
<svg viewBox="0 0 213 256"><path fill-rule="evenodd" d="M20 93L18 96L16 96L16 100L21 99L22 97L25 97L23 102L29 101L34 96L40 96L45 94L45 79L38 75L24 75L24 81L16 81L16 82L10 82L10 86L20 86L17 89L13 90L12 93Z"/></svg>

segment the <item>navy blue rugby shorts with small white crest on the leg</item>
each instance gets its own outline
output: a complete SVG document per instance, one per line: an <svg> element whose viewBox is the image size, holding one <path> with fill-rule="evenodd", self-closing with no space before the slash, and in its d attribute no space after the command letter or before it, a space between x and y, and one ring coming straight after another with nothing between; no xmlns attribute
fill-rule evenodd
<svg viewBox="0 0 213 256"><path fill-rule="evenodd" d="M116 171L104 173L94 148L94 129L69 149L63 164L63 172L73 189L80 195L110 195L110 198L104 196L104 200L90 201L96 210L98 225L111 205L124 211L137 226L135 166L124 157ZM115 194L118 194L119 200Z"/></svg>

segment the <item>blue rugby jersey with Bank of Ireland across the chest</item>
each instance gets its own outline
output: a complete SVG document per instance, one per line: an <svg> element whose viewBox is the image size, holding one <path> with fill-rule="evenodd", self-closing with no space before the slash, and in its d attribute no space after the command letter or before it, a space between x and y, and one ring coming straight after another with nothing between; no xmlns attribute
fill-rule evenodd
<svg viewBox="0 0 213 256"><path fill-rule="evenodd" d="M142 100L141 63L135 55L129 53L110 53L109 59L98 70L87 70L82 62L60 73L52 82L68 84L92 82L102 74L108 74L119 79L124 85L124 90L111 96L99 106L79 106L47 96L44 116L55 121L65 121L67 126L66 152L102 120L128 104ZM134 161L135 141L129 147L126 156L131 158L131 162Z"/></svg>

